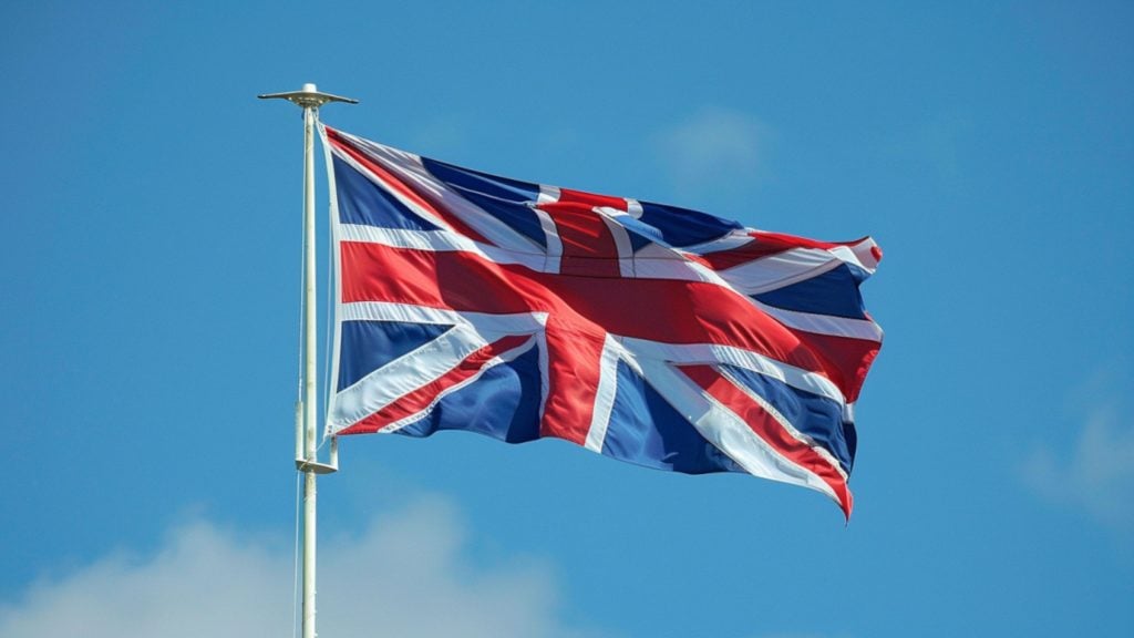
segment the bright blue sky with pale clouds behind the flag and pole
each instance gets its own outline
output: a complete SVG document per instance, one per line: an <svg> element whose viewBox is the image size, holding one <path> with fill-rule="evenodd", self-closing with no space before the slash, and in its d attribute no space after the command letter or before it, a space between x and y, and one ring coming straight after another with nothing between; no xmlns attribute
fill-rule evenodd
<svg viewBox="0 0 1134 638"><path fill-rule="evenodd" d="M290 631L302 128L254 96L304 82L388 144L886 252L849 526L356 437L322 636L1134 633L1131 3L99 5L0 9L0 637Z"/></svg>

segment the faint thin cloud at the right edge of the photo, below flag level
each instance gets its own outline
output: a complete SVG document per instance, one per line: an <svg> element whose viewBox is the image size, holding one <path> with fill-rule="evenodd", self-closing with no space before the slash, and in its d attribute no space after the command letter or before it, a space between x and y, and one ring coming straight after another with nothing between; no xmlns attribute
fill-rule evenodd
<svg viewBox="0 0 1134 638"><path fill-rule="evenodd" d="M1132 531L1134 428L1119 423L1112 405L1092 410L1068 455L1056 454L1050 446L1036 447L1024 463L1023 477L1041 496Z"/></svg>

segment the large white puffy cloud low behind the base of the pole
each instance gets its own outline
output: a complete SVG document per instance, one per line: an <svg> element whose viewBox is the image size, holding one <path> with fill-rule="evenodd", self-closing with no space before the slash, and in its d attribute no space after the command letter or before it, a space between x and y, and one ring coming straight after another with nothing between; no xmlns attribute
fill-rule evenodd
<svg viewBox="0 0 1134 638"><path fill-rule="evenodd" d="M452 507L418 503L357 537L321 538L323 636L567 638L539 563L474 568ZM118 553L0 602L0 636L249 637L293 631L291 547L209 522L146 557Z"/></svg>

